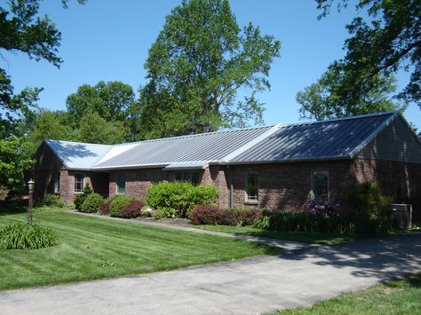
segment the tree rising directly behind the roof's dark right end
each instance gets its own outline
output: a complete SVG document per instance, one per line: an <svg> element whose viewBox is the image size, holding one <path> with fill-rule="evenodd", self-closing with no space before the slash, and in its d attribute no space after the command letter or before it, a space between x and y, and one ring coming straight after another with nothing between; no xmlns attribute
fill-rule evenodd
<svg viewBox="0 0 421 315"><path fill-rule="evenodd" d="M404 110L406 105L396 104L391 95L396 90L393 75L374 75L365 94L355 94L347 84L344 64L334 62L316 82L297 93L301 118L332 119L358 114Z"/></svg>

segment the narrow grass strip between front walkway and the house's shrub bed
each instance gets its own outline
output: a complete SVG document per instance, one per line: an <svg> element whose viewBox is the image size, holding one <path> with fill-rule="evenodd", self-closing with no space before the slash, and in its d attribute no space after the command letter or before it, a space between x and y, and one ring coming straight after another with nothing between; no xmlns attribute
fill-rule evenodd
<svg viewBox="0 0 421 315"><path fill-rule="evenodd" d="M255 229L252 227L230 225L195 225L198 229L233 233L238 235L262 236L279 240L295 240L310 244L333 245L344 241L361 239L364 235L346 235L332 233L306 233L306 232L275 232Z"/></svg>

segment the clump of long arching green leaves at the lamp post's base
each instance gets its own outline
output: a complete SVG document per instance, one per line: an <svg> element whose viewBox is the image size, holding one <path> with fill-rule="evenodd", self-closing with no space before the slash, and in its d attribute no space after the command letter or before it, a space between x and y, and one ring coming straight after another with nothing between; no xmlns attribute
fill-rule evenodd
<svg viewBox="0 0 421 315"><path fill-rule="evenodd" d="M49 248L56 244L57 234L49 227L18 222L0 229L2 249Z"/></svg>

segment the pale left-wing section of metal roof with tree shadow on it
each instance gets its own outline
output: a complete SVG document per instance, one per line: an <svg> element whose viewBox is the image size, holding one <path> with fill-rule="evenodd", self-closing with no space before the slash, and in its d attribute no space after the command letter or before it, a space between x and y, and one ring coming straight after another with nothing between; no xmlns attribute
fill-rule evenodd
<svg viewBox="0 0 421 315"><path fill-rule="evenodd" d="M91 169L113 146L46 139L67 169Z"/></svg>

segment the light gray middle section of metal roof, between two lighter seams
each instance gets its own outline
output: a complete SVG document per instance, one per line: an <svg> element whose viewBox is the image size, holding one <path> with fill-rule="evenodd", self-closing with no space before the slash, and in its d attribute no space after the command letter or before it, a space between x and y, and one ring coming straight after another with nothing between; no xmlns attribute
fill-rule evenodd
<svg viewBox="0 0 421 315"><path fill-rule="evenodd" d="M274 126L266 126L141 141L122 154L99 162L93 169L166 166L193 161L218 162L253 139L273 131Z"/></svg>

